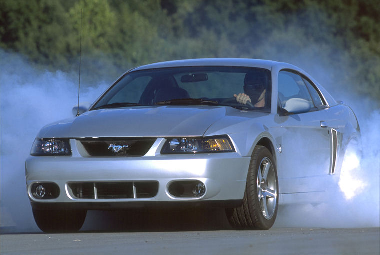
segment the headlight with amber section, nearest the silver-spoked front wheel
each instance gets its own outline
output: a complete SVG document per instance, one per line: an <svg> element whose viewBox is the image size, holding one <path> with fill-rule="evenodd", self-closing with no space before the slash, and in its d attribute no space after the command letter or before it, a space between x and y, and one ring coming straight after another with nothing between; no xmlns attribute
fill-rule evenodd
<svg viewBox="0 0 380 255"><path fill-rule="evenodd" d="M180 137L168 138L166 143L163 145L161 153L207 153L233 151L235 150L227 136Z"/></svg>

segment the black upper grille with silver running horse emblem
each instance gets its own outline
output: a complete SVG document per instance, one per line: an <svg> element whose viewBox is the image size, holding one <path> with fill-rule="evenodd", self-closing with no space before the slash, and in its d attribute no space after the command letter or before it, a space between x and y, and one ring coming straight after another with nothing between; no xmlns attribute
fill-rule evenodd
<svg viewBox="0 0 380 255"><path fill-rule="evenodd" d="M78 139L90 156L131 156L145 155L156 138L85 138Z"/></svg>

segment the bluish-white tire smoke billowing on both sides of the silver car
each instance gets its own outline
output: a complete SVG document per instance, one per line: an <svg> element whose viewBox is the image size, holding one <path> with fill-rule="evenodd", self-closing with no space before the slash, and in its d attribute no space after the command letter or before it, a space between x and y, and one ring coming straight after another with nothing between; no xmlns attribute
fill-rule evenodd
<svg viewBox="0 0 380 255"><path fill-rule="evenodd" d="M310 63L302 65L299 59L289 62L301 68L306 66L306 70L310 66ZM0 65L1 232L39 232L26 193L24 161L42 126L72 116L71 109L77 104L77 74L39 70L18 54L1 49ZM322 83L317 76L323 72L332 70L321 69L317 75L310 74ZM92 85L81 83L84 84L81 102L93 102L109 85L103 81ZM378 107L378 102L356 97L344 88L322 85L329 91L332 89L335 99L343 99L355 111L361 127L363 157L355 167L347 162L349 167L343 169L347 172L341 187L348 183L348 196L338 187L326 194L327 203L280 207L273 227L378 227L380 109L373 108L373 105ZM358 152L353 150L352 155L348 158L355 160Z"/></svg>

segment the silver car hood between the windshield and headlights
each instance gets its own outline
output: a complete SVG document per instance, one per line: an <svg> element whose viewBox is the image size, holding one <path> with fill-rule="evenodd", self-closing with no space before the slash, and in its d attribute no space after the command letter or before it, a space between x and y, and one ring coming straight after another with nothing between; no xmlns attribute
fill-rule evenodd
<svg viewBox="0 0 380 255"><path fill-rule="evenodd" d="M243 112L248 113L249 116L242 116ZM207 129L220 119L233 117L232 122L223 121L224 124L217 129L247 120L247 117L251 119L252 114L260 116L264 113L241 111L223 106L100 109L47 125L42 128L38 136L46 138L203 136Z"/></svg>

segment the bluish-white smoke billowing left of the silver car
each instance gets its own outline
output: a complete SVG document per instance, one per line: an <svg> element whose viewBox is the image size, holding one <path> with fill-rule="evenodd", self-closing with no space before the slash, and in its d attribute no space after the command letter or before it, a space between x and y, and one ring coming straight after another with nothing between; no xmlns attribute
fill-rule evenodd
<svg viewBox="0 0 380 255"><path fill-rule="evenodd" d="M42 126L72 116L78 78L38 70L19 55L1 49L0 66L1 231L38 231L26 193L24 161ZM80 101L94 101L105 88L99 82L81 89Z"/></svg>

